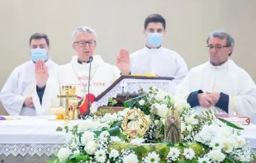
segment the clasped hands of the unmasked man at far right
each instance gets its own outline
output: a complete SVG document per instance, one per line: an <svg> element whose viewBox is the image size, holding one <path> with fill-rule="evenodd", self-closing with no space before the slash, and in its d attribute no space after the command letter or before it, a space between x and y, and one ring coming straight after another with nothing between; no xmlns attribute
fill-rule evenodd
<svg viewBox="0 0 256 163"><path fill-rule="evenodd" d="M206 92L206 93L199 93L197 95L199 105L204 108L216 105L220 99L220 93L217 92Z"/></svg>

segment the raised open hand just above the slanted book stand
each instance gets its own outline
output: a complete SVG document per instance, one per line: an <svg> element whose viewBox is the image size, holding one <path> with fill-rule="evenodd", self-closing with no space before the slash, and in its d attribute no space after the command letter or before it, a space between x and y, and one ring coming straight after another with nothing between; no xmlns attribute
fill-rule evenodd
<svg viewBox="0 0 256 163"><path fill-rule="evenodd" d="M128 75L130 73L130 53L128 50L120 50L116 56L116 66L120 69L121 74Z"/></svg>

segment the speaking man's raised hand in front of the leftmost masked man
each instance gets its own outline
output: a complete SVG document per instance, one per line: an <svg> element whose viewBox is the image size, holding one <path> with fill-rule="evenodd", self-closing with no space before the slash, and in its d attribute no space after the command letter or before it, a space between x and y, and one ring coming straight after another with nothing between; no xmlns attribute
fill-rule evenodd
<svg viewBox="0 0 256 163"><path fill-rule="evenodd" d="M46 85L46 81L48 80L48 68L45 66L45 62L42 60L38 60L35 65L36 71L36 86L43 88Z"/></svg>

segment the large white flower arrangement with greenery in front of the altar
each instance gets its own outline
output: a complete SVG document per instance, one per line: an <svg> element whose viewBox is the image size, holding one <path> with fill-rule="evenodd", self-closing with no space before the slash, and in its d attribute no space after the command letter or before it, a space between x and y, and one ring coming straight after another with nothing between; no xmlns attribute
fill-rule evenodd
<svg viewBox="0 0 256 163"><path fill-rule="evenodd" d="M148 94L135 100L132 107L143 111L150 122L145 135L128 142L126 134L122 133L121 120L130 110L128 107L117 114L94 115L70 130L65 128L69 134L55 162L252 161L254 155L249 142L241 137L239 130L216 119L214 112L197 114L182 96L168 95L156 88L150 88ZM163 127L170 103L181 118L183 142L175 145L163 142ZM131 114L129 119L135 116Z"/></svg>

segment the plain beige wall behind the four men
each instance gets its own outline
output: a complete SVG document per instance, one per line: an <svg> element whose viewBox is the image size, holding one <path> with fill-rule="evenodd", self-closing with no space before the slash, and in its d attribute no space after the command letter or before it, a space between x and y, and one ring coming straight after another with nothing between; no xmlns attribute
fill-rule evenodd
<svg viewBox="0 0 256 163"><path fill-rule="evenodd" d="M73 55L72 31L90 26L97 32L97 54L115 64L119 49L143 47L144 20L154 12L167 21L164 46L181 54L189 68L207 60L207 35L225 29L235 38L232 58L256 81L255 0L1 0L0 87L30 58L28 40L35 32L49 35L50 57L63 64Z"/></svg>

